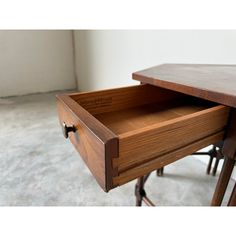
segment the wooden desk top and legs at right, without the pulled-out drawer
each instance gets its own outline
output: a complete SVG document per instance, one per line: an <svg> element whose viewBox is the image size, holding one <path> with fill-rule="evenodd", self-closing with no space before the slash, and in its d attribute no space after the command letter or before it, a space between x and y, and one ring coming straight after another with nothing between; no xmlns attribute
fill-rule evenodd
<svg viewBox="0 0 236 236"><path fill-rule="evenodd" d="M133 73L142 83L181 92L231 108L224 136L224 165L212 199L213 206L222 203L236 159L236 66L163 64ZM229 205L236 204L236 190Z"/></svg>

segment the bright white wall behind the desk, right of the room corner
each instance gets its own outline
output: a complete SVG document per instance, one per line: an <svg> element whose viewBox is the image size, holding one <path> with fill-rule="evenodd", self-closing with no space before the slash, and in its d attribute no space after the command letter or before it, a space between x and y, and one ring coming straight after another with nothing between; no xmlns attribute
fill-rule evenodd
<svg viewBox="0 0 236 236"><path fill-rule="evenodd" d="M135 84L134 71L161 63L236 63L236 31L76 31L80 90Z"/></svg>

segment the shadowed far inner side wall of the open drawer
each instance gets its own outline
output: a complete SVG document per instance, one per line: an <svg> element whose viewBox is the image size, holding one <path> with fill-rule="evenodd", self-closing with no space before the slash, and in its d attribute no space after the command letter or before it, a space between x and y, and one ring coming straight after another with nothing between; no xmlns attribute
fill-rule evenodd
<svg viewBox="0 0 236 236"><path fill-rule="evenodd" d="M181 96L180 93L150 85L137 85L70 95L73 100L93 115L124 110L156 101L169 101Z"/></svg>

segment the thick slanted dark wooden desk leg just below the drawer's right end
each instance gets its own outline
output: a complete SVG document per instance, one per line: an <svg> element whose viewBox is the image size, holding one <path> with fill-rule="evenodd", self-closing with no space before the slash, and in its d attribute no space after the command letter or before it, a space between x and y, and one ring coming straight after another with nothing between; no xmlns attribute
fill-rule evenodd
<svg viewBox="0 0 236 236"><path fill-rule="evenodd" d="M228 186L235 160L225 157L225 161L216 185L215 193L212 198L212 206L220 206L224 198L226 188Z"/></svg>

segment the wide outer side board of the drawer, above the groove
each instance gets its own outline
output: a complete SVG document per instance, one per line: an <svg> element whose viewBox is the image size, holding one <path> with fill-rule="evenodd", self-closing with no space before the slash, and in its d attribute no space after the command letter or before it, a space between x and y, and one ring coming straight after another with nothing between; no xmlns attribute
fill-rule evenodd
<svg viewBox="0 0 236 236"><path fill-rule="evenodd" d="M228 112L227 107L219 105L121 134L119 158L114 160L114 166L122 172L222 131L227 123Z"/></svg>

